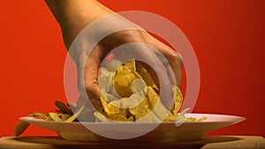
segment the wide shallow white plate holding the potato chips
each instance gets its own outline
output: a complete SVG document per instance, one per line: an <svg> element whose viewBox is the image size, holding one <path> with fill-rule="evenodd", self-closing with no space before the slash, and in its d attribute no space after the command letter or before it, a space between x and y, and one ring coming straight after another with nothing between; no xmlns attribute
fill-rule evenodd
<svg viewBox="0 0 265 149"><path fill-rule="evenodd" d="M210 130L216 130L229 126L231 124L244 121L246 118L237 115L213 115L213 114L188 114L188 116L201 118L207 116L203 122L182 123L176 126L176 123L161 123L155 130L138 138L131 139L110 139L101 137L86 127L93 128L101 134L113 136L125 136L133 134L135 131L152 128L157 123L64 123L43 121L30 116L20 117L19 119L27 123L49 130L57 131L58 135L67 140L76 141L137 141L137 142L167 142L167 141L186 141L202 138ZM85 127L86 126L86 127ZM115 136L114 135L114 136Z"/></svg>

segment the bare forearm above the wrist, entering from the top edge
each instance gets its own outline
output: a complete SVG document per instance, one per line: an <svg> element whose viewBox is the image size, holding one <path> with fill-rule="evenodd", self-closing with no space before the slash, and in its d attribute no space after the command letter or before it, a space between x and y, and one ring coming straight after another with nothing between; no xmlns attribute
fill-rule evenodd
<svg viewBox="0 0 265 149"><path fill-rule="evenodd" d="M84 27L113 12L96 0L45 0L45 2L61 26L67 48Z"/></svg>

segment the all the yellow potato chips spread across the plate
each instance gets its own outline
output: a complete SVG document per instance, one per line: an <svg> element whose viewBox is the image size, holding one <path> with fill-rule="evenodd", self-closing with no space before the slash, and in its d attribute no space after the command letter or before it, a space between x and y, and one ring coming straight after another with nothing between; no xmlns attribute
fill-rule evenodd
<svg viewBox="0 0 265 149"><path fill-rule="evenodd" d="M163 106L159 88L140 62L121 63L116 59L102 65L99 75L102 109L93 112L89 101L77 103L56 101L57 112L34 112L29 116L55 122L201 122L206 119L186 117L188 108L178 113L183 97L178 86L172 86L175 104L171 110ZM95 115L95 116L94 116ZM29 123L20 122L16 136L27 130Z"/></svg>

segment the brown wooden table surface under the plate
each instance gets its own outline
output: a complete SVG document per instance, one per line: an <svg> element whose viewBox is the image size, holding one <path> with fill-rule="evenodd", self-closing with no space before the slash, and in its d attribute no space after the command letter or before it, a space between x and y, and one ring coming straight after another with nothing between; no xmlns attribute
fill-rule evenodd
<svg viewBox="0 0 265 149"><path fill-rule="evenodd" d="M231 149L231 148L264 148L265 138L259 136L210 136L200 140L186 142L77 142L67 141L59 137L4 137L0 138L2 149L137 149L137 148L187 148L187 149Z"/></svg>

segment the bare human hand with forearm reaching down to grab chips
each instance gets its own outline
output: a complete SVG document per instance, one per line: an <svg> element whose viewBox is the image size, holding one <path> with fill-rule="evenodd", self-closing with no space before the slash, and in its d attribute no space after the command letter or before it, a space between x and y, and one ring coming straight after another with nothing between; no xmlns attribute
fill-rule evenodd
<svg viewBox="0 0 265 149"><path fill-rule="evenodd" d="M71 0L64 0L64 2L60 3L52 0L46 0L46 2L49 4L49 8L51 9L51 11L53 11L62 28L64 43L67 48L70 48L73 39L83 28L85 28L87 25L92 24L95 20L101 19L102 17L108 16L113 13L113 11L110 11L108 8L102 6L102 4L99 4L94 0L77 0L74 2ZM105 22L102 26L105 26L105 28L111 28L117 27L117 25L134 26L132 23L130 23L130 21L126 19L118 19L117 22L110 20ZM178 54L178 52L163 44L163 42L156 40L147 32L135 29L135 27L132 28L110 34L107 37L103 38L102 41L95 43L93 50L91 51L89 56L87 55L86 47L93 45L93 39L85 40L82 48L75 48L73 52L70 51L70 54L72 55L75 63L77 63L79 71L79 92L82 96L87 95L95 108L101 107L101 102L99 101L100 88L97 83L97 76L102 59L113 48L117 48L118 46L126 43L140 42L156 48L163 54L163 56L167 58L170 66L172 67L174 76L170 76L170 78L175 78L176 85L181 86L182 58ZM96 30L95 34L102 34L104 32L104 28L101 28ZM162 72L164 68L163 63L155 55L155 52L145 50L142 47L135 47L135 53L138 53L138 56L144 56L144 58L147 59L148 63L153 63L155 65L155 68L150 68L147 65L145 66L148 69L148 72L154 78L156 78L155 83L161 83L160 86L162 86L164 90L169 90L170 82L157 81L155 72ZM86 94L81 91L82 88L85 88ZM163 104L167 108L169 108L169 103L172 103L172 101L170 101L168 97L170 97L170 95L168 94L162 95Z"/></svg>

